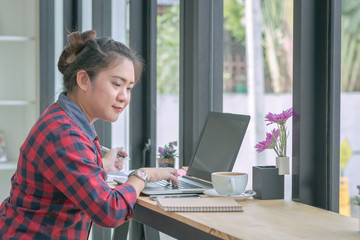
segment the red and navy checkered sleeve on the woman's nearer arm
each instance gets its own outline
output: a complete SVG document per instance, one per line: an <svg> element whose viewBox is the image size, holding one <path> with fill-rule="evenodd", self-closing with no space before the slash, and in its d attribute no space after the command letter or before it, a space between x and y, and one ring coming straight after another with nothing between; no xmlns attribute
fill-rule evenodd
<svg viewBox="0 0 360 240"><path fill-rule="evenodd" d="M128 184L115 189L108 186L97 141L89 141L74 128L42 140L48 143L41 144L41 160L32 164L55 188L99 226L116 227L129 220L135 189Z"/></svg>

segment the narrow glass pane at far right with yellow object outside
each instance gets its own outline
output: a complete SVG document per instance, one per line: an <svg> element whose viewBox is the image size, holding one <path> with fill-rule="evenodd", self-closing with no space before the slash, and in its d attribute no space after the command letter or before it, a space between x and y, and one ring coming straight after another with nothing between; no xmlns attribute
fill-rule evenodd
<svg viewBox="0 0 360 240"><path fill-rule="evenodd" d="M360 197L359 13L360 1L342 1L339 212L352 217L359 217L355 196Z"/></svg>

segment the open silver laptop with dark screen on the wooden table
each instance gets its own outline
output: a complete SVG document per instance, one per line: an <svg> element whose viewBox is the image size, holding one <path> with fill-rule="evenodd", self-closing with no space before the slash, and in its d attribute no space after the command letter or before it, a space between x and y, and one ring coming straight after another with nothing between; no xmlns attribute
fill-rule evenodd
<svg viewBox="0 0 360 240"><path fill-rule="evenodd" d="M147 183L142 193L182 194L203 193L212 189L212 172L230 172L249 125L250 116L209 112L192 155L186 175L179 178L179 186L163 180ZM126 179L114 179L122 183Z"/></svg>

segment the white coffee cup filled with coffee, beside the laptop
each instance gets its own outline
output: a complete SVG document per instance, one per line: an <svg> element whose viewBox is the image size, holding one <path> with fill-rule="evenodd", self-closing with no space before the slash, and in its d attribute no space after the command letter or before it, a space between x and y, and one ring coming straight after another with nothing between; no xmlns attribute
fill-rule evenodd
<svg viewBox="0 0 360 240"><path fill-rule="evenodd" d="M239 195L245 191L248 174L243 172L214 172L211 182L220 195Z"/></svg>

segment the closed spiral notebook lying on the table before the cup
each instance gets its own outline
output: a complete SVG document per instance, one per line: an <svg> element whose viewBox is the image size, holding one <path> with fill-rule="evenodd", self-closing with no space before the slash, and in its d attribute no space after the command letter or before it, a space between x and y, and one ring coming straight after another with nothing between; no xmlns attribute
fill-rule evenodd
<svg viewBox="0 0 360 240"><path fill-rule="evenodd" d="M232 198L158 198L157 205L169 212L242 212Z"/></svg>

